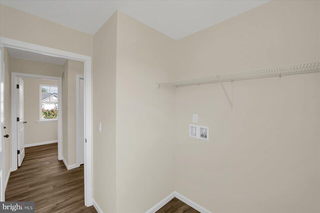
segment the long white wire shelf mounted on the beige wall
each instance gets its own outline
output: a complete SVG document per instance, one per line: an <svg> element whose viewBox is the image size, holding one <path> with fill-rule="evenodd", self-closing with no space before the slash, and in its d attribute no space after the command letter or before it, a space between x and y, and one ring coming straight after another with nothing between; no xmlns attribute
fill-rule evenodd
<svg viewBox="0 0 320 213"><path fill-rule="evenodd" d="M189 80L180 80L168 83L157 83L156 87L160 86L190 86L190 85L200 85L209 83L221 83L227 81L239 81L248 80L256 78L267 78L267 77L281 77L285 75L295 75L304 73L320 72L320 61L301 63L287 66L279 66L273 68L257 69L244 72L235 72L223 75L215 75L203 78L194 78Z"/></svg>

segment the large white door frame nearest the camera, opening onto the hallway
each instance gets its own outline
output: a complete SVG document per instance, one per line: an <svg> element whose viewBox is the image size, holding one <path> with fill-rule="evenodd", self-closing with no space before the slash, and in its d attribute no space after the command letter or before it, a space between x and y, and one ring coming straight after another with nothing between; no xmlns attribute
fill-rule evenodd
<svg viewBox="0 0 320 213"><path fill-rule="evenodd" d="M92 206L92 85L91 85L91 56L68 52L60 49L0 37L0 46L26 50L43 55L63 57L67 59L82 61L84 63L84 204ZM3 61L1 61L1 64ZM1 74L4 70L1 69ZM61 97L61 96L60 96ZM61 109L62 110L62 109ZM14 122L15 123L15 122ZM60 140L62 142L62 139Z"/></svg>

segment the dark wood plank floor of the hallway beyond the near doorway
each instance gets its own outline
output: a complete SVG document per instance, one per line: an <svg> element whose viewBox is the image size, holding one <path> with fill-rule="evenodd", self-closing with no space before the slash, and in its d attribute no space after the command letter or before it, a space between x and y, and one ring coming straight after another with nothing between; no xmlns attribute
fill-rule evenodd
<svg viewBox="0 0 320 213"><path fill-rule="evenodd" d="M84 206L83 165L67 170L57 144L25 148L21 167L11 172L5 201L33 201L36 213L96 213Z"/></svg>

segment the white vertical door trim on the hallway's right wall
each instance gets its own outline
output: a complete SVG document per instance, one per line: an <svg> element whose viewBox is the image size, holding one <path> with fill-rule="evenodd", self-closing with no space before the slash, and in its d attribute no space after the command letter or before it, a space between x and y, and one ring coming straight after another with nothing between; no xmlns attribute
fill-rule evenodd
<svg viewBox="0 0 320 213"><path fill-rule="evenodd" d="M76 167L80 166L80 159L79 159L79 148L81 146L81 142L78 140L78 135L81 134L79 130L79 122L80 119L80 112L79 112L79 96L80 96L80 89L79 89L79 81L80 79L84 80L83 75L76 74L75 75L75 160L76 160ZM85 138L85 137L84 137ZM84 143L84 142L83 142Z"/></svg>

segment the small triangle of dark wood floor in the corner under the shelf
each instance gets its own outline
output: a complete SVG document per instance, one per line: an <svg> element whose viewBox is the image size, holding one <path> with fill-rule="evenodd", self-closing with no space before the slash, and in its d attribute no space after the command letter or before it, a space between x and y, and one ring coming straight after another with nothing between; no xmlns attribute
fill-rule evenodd
<svg viewBox="0 0 320 213"><path fill-rule="evenodd" d="M200 213L177 198L173 198L156 213Z"/></svg>

